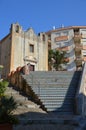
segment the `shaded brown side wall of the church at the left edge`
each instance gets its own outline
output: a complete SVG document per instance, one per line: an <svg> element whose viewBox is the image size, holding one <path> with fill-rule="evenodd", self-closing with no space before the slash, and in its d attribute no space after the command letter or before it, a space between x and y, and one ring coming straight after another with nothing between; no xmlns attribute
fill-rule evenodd
<svg viewBox="0 0 86 130"><path fill-rule="evenodd" d="M4 66L2 77L6 77L10 72L11 61L11 35L5 37L0 44L0 65Z"/></svg>

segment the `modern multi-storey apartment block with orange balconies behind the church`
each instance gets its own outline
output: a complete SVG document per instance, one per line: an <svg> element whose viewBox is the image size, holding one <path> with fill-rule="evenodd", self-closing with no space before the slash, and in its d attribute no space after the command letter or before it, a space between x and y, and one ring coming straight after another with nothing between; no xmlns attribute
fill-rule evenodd
<svg viewBox="0 0 86 130"><path fill-rule="evenodd" d="M53 50L66 51L66 70L79 70L86 61L86 26L54 28L46 32L48 46Z"/></svg>

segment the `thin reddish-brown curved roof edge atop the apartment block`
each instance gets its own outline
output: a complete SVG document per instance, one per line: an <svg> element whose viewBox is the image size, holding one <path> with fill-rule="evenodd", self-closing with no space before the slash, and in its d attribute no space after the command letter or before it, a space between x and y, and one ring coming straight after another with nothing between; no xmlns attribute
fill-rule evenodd
<svg viewBox="0 0 86 130"><path fill-rule="evenodd" d="M46 33L46 34L50 34L50 33L52 33L52 32L57 32L57 31L61 31L61 30L68 30L68 29L75 29L75 28L86 29L86 26L68 26L68 27L60 27L60 28L56 28L56 29L49 30L48 32L45 32L45 33Z"/></svg>

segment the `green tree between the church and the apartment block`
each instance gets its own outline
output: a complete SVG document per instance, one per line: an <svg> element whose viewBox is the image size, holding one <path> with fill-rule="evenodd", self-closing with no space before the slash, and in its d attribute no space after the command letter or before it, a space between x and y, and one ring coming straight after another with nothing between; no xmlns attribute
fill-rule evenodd
<svg viewBox="0 0 86 130"><path fill-rule="evenodd" d="M51 67L55 68L55 70L59 70L61 68L61 64L65 64L65 54L66 52L60 52L58 50L49 50L48 53L48 63Z"/></svg>

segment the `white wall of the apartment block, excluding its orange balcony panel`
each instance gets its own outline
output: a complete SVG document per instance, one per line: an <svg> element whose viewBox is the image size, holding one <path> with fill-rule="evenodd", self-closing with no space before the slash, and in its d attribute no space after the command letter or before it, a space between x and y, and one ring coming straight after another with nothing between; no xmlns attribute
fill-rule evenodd
<svg viewBox="0 0 86 130"><path fill-rule="evenodd" d="M55 38L60 37L60 36L67 36L67 40L60 40L60 41L55 41ZM67 70L75 70L76 65L74 64L75 60L75 52L73 51L75 48L74 45L74 32L73 29L70 30L61 30L58 32L52 32L51 33L51 49L56 49L56 48L61 48L61 47L68 47L68 50L66 53L69 53L68 58L69 58L69 63L67 64Z"/></svg>

